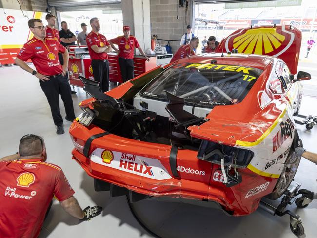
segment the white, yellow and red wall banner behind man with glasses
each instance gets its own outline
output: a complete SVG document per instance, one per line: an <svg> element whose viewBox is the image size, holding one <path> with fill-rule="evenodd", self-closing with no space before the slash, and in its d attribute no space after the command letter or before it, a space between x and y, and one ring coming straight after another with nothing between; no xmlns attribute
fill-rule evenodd
<svg viewBox="0 0 317 238"><path fill-rule="evenodd" d="M44 12L23 11L29 19L39 18L46 25ZM23 44L33 37L21 10L0 9L0 63L12 64Z"/></svg>

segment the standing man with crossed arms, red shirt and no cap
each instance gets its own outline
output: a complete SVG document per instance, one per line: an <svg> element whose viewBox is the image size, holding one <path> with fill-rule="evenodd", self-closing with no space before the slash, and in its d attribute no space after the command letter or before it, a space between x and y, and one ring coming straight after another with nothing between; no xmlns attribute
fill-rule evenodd
<svg viewBox="0 0 317 238"><path fill-rule="evenodd" d="M112 48L107 38L99 33L100 23L98 18L90 19L92 31L87 35L86 42L91 58L91 67L95 81L100 82L100 91L109 90L109 62L108 54Z"/></svg>

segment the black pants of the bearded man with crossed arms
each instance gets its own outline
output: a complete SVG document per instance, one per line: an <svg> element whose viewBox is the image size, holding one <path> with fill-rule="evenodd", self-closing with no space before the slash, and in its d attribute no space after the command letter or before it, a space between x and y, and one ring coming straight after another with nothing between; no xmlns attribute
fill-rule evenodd
<svg viewBox="0 0 317 238"><path fill-rule="evenodd" d="M107 92L109 90L109 62L102 60L91 60L94 79L100 82L100 91Z"/></svg>

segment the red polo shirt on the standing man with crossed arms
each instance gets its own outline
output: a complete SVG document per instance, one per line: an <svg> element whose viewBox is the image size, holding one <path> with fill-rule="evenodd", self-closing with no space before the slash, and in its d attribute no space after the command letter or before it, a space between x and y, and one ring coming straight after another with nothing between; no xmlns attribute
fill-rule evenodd
<svg viewBox="0 0 317 238"><path fill-rule="evenodd" d="M105 52L102 53L96 53L91 49L91 46L97 45L98 47L103 47L105 45L110 45L107 38L102 35L102 34L96 34L95 32L91 31L87 37L86 37L86 42L88 46L88 51L90 55L90 59L95 59L95 60L104 60L108 59L108 54Z"/></svg>

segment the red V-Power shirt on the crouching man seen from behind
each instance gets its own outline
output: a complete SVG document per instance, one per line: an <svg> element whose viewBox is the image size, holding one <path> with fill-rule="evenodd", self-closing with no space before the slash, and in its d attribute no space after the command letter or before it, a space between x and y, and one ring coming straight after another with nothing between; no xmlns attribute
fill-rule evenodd
<svg viewBox="0 0 317 238"><path fill-rule="evenodd" d="M37 238L55 196L75 192L59 166L41 159L0 162L0 237Z"/></svg>

